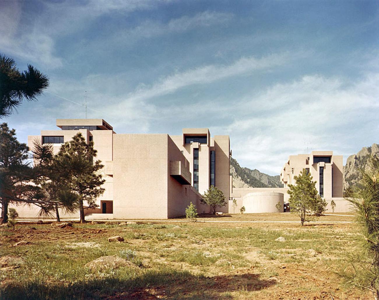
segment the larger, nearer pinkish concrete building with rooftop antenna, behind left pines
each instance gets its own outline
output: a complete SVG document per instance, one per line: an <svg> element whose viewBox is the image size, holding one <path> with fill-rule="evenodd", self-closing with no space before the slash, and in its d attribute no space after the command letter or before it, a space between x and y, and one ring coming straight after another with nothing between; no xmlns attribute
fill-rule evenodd
<svg viewBox="0 0 379 300"><path fill-rule="evenodd" d="M93 218L174 218L184 215L190 202L199 213L209 212L200 198L210 185L229 199L228 135L211 137L207 128L186 128L182 135L116 134L102 119L58 119L56 126L60 130L28 136L28 146L39 140L58 152L78 132L94 142L106 181L99 208L85 210ZM38 215L33 206L17 210L22 217Z"/></svg>

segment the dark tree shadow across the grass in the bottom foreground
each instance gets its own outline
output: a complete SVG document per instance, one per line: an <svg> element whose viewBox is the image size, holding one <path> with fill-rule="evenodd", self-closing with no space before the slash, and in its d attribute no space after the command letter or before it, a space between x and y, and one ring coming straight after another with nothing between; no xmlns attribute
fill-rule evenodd
<svg viewBox="0 0 379 300"><path fill-rule="evenodd" d="M259 274L205 277L187 271L147 270L131 278L104 278L75 283L12 283L0 288L0 299L230 299L230 292L259 291L276 284Z"/></svg>

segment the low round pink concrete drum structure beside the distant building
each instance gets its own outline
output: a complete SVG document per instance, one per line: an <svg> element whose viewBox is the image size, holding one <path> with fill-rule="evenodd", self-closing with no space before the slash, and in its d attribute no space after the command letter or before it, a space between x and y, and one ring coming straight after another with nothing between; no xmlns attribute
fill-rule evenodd
<svg viewBox="0 0 379 300"><path fill-rule="evenodd" d="M246 194L242 199L245 213L277 213L277 203L280 202L283 212L284 194L275 192L258 192Z"/></svg>

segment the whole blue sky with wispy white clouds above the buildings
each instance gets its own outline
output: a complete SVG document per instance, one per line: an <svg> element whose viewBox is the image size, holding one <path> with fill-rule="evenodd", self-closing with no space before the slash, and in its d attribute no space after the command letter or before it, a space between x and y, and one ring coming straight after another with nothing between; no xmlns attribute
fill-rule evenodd
<svg viewBox="0 0 379 300"><path fill-rule="evenodd" d="M49 77L5 121L229 135L241 166L379 143L379 1L0 0L0 53ZM86 91L86 92L85 92Z"/></svg>

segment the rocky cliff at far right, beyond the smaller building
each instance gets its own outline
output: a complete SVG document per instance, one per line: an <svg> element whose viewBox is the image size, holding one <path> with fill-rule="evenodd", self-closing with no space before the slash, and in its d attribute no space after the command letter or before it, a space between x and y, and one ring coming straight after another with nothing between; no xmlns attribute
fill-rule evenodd
<svg viewBox="0 0 379 300"><path fill-rule="evenodd" d="M371 147L363 147L357 154L350 155L343 166L343 188L347 191L357 184L362 178L361 169L367 168L367 162L372 155L379 158L379 145L373 144Z"/></svg>

